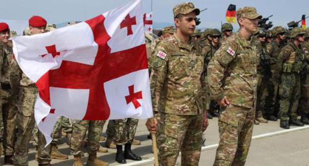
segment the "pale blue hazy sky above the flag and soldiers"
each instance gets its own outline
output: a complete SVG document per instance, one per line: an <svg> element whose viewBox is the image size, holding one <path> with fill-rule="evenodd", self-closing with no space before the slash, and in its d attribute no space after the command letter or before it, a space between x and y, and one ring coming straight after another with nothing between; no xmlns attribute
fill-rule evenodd
<svg viewBox="0 0 309 166"><path fill-rule="evenodd" d="M49 23L83 21L104 13L130 0L1 0L0 19L28 20L32 15L41 15ZM153 6L154 27L173 24L172 8L187 0L143 0L145 12ZM309 0L191 0L200 9L208 8L198 17L203 28L220 28L225 22L225 12L229 4L236 8L254 6L264 17L273 14L270 21L286 27L290 21L301 20L302 14L309 16ZM309 18L307 19L309 25ZM237 26L234 24L234 26Z"/></svg>

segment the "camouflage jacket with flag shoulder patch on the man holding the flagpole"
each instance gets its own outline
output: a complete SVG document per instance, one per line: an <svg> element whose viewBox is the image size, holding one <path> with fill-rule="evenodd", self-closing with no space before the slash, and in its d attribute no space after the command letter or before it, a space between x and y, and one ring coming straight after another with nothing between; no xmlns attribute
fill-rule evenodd
<svg viewBox="0 0 309 166"><path fill-rule="evenodd" d="M175 115L198 115L204 111L202 51L195 40L184 43L176 35L157 45L150 77L154 111Z"/></svg>

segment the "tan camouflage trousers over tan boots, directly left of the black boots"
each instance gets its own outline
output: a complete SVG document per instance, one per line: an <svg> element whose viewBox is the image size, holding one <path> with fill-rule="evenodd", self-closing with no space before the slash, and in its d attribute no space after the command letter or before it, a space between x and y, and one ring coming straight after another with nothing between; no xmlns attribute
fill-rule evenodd
<svg viewBox="0 0 309 166"><path fill-rule="evenodd" d="M100 148L100 136L103 131L105 121L85 121L73 120L72 137L70 138L70 147L72 155L83 155L84 151L88 154L95 154ZM86 132L88 137L85 145Z"/></svg>

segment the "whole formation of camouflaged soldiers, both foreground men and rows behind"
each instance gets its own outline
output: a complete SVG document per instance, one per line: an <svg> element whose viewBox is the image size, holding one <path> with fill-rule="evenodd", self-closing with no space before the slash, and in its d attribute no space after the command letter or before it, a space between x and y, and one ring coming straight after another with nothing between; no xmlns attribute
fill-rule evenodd
<svg viewBox="0 0 309 166"><path fill-rule="evenodd" d="M198 166L208 119L218 117L220 141L213 166L244 166L254 124L278 119L284 129L309 124L309 28L264 29L258 27L262 17L255 8L242 7L237 11L238 32L233 33L230 23L202 32L196 28L200 12L192 2L176 5L175 26L146 41L154 110L146 126L155 133L161 166L175 166L180 152L182 166ZM33 16L23 35L55 29ZM68 138L73 166L83 166L85 152L87 166L107 166L97 157L107 148L117 150L119 164L142 160L131 149L141 144L134 139L138 120L132 118L108 121L105 138L105 121L60 117L45 147L34 118L38 89L14 58L9 40L14 36L0 23L0 152L5 165L28 166L31 141L39 166L67 160L57 147L62 137ZM103 140L107 148L100 145Z"/></svg>

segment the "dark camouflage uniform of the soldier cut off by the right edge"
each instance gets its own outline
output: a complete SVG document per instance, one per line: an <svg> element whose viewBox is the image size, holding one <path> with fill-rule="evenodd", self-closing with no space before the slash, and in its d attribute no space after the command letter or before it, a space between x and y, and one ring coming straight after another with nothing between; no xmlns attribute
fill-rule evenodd
<svg viewBox="0 0 309 166"><path fill-rule="evenodd" d="M302 76L301 82L301 100L300 109L302 113L309 114L309 44L308 42L302 44L302 49L305 55L305 72Z"/></svg>

